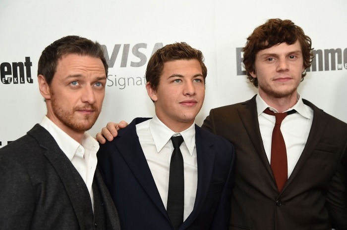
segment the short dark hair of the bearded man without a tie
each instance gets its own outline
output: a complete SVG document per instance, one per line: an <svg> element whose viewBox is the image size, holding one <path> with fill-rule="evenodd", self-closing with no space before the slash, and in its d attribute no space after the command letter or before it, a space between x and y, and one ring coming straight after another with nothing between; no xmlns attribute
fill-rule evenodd
<svg viewBox="0 0 347 230"><path fill-rule="evenodd" d="M109 66L106 62L104 51L98 42L79 36L66 36L47 46L39 59L37 75L43 75L48 85L51 85L57 70L58 60L67 54L79 54L100 58L105 67L106 76Z"/></svg>

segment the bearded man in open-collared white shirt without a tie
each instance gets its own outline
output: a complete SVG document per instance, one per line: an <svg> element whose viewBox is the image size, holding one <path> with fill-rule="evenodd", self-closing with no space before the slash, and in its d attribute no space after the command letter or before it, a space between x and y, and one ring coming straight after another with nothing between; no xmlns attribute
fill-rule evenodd
<svg viewBox="0 0 347 230"><path fill-rule="evenodd" d="M105 96L108 65L99 43L63 37L40 57L47 115L0 149L1 230L120 230L86 133Z"/></svg>

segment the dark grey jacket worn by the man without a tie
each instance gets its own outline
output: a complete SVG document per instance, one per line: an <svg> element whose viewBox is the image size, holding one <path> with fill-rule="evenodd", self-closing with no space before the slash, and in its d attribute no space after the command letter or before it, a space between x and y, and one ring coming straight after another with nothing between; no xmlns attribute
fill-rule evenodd
<svg viewBox="0 0 347 230"><path fill-rule="evenodd" d="M116 208L98 170L93 190L97 188L102 200L94 200L106 218L96 224L119 230ZM90 230L94 222L87 186L46 129L35 125L0 149L1 230Z"/></svg>

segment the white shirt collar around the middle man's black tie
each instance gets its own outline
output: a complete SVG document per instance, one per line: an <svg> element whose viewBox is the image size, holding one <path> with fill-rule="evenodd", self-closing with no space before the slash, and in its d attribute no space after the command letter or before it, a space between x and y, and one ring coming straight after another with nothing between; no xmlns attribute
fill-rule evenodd
<svg viewBox="0 0 347 230"><path fill-rule="evenodd" d="M195 122L188 129L175 133L161 122L157 116L154 116L149 123L149 129L158 152L168 143L172 136L178 136L180 134L183 137L189 154L193 155L195 146Z"/></svg>

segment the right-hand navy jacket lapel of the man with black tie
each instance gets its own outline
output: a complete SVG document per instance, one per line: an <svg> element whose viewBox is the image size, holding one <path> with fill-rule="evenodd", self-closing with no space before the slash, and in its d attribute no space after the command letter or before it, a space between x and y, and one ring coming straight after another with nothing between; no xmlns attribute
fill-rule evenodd
<svg viewBox="0 0 347 230"><path fill-rule="evenodd" d="M199 215L211 184L213 166L215 163L216 153L211 148L213 143L210 142L209 138L203 136L201 128L197 125L195 125L195 145L198 164L198 184L196 189L196 197L193 211L184 221L180 229L187 228Z"/></svg>

